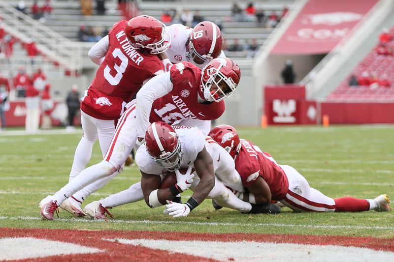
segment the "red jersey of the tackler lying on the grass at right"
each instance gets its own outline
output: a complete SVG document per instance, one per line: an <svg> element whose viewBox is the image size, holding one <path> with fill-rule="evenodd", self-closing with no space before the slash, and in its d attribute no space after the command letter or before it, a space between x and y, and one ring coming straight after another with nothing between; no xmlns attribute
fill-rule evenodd
<svg viewBox="0 0 394 262"><path fill-rule="evenodd" d="M272 156L258 146L241 139L241 148L235 158L235 169L241 175L245 187L252 185L261 176L268 184L272 200L282 200L289 189L289 180Z"/></svg>

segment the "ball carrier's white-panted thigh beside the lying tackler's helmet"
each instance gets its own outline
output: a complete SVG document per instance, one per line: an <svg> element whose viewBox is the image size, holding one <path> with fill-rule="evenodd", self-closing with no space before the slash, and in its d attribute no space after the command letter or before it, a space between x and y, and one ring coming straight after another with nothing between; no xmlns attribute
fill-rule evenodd
<svg viewBox="0 0 394 262"><path fill-rule="evenodd" d="M234 160L228 152L216 143L210 144L210 154L213 160L215 176L219 178L226 186L238 192L244 192L241 176L235 170Z"/></svg>

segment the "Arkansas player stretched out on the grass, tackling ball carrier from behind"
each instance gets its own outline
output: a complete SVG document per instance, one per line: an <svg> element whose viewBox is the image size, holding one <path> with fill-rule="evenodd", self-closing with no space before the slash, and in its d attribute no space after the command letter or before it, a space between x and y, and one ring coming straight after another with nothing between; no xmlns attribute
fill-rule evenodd
<svg viewBox="0 0 394 262"><path fill-rule="evenodd" d="M296 169L277 164L270 154L263 152L251 142L240 139L235 128L230 125L214 127L209 132L209 136L225 148L234 159L235 169L241 175L243 185L250 192L250 194L237 194L244 201L266 204L276 200L296 212L391 210L390 199L386 194L375 199L351 197L332 199L325 196L310 187L308 181Z"/></svg>

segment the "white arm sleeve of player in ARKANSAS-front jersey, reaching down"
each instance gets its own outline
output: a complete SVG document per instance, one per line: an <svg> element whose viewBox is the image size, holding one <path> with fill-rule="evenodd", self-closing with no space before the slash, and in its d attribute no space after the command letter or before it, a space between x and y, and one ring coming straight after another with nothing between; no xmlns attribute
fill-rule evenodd
<svg viewBox="0 0 394 262"><path fill-rule="evenodd" d="M169 72L157 75L149 80L137 93L135 116L137 118L138 137L144 137L149 126L149 116L153 101L172 90Z"/></svg>

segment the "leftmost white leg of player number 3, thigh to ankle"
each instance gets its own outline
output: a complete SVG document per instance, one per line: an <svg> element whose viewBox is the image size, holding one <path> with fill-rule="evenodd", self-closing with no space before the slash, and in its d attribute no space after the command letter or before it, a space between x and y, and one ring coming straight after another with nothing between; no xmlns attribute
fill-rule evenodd
<svg viewBox="0 0 394 262"><path fill-rule="evenodd" d="M81 124L83 135L78 143L74 153L74 161L72 163L69 180L74 179L79 173L86 168L92 156L93 145L98 139L95 118L81 111Z"/></svg>

